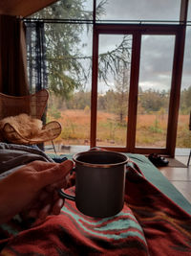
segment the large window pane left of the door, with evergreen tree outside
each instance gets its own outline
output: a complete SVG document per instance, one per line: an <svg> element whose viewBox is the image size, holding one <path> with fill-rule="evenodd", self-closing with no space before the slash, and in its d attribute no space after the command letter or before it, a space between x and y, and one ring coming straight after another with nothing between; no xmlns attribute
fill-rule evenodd
<svg viewBox="0 0 191 256"><path fill-rule="evenodd" d="M90 26L90 25L89 25ZM34 39L34 34L32 34ZM54 140L57 151L73 151L68 145L90 145L92 25L45 23L45 49L49 89L47 122L58 121L62 132ZM35 47L33 45L33 47ZM32 47L31 47L32 48ZM31 63L38 64L28 47ZM30 56L31 53L31 56ZM35 81L36 73L29 76ZM38 74L39 75L39 74ZM49 142L50 144L50 142ZM46 143L46 146L49 146ZM72 149L71 149L72 148Z"/></svg>

